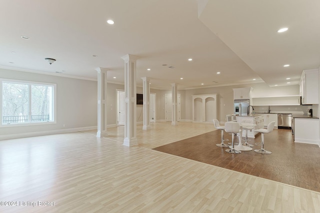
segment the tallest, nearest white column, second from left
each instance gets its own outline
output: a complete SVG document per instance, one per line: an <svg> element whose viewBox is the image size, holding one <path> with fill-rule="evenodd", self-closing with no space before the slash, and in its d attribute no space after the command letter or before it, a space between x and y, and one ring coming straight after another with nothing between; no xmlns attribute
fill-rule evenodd
<svg viewBox="0 0 320 213"><path fill-rule="evenodd" d="M134 55L124 55L124 146L134 146L136 140L136 59Z"/></svg>

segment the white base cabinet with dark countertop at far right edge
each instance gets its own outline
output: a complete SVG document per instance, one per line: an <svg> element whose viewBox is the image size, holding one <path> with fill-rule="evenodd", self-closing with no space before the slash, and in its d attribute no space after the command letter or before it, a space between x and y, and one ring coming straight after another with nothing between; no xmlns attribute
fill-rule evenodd
<svg viewBox="0 0 320 213"><path fill-rule="evenodd" d="M319 145L319 118L301 114L292 117L294 142Z"/></svg>

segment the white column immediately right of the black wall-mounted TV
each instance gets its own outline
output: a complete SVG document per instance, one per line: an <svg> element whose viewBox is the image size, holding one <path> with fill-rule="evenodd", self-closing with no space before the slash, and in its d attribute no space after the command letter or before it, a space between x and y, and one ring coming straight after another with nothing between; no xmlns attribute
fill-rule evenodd
<svg viewBox="0 0 320 213"><path fill-rule="evenodd" d="M143 130L150 129L150 79L142 77L143 80Z"/></svg>

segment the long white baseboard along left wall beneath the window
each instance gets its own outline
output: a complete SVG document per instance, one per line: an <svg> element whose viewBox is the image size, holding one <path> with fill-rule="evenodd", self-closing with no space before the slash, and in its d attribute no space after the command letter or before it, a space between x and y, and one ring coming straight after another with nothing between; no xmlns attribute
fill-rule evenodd
<svg viewBox="0 0 320 213"><path fill-rule="evenodd" d="M0 140L26 138L26 137L34 137L34 136L42 136L42 135L54 135L54 134L61 134L61 133L86 131L86 130L92 130L92 129L97 129L97 126L79 127L79 128L72 128L72 129L48 130L48 131L41 131L41 132L26 132L26 133L12 134L12 135L0 135Z"/></svg>

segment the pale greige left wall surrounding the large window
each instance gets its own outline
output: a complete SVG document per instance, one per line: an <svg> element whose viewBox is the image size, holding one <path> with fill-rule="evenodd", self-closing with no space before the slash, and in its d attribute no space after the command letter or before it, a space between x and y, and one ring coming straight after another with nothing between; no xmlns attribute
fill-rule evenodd
<svg viewBox="0 0 320 213"><path fill-rule="evenodd" d="M0 78L56 84L56 124L1 127L0 139L70 132L97 126L96 81L6 69L0 69Z"/></svg>

